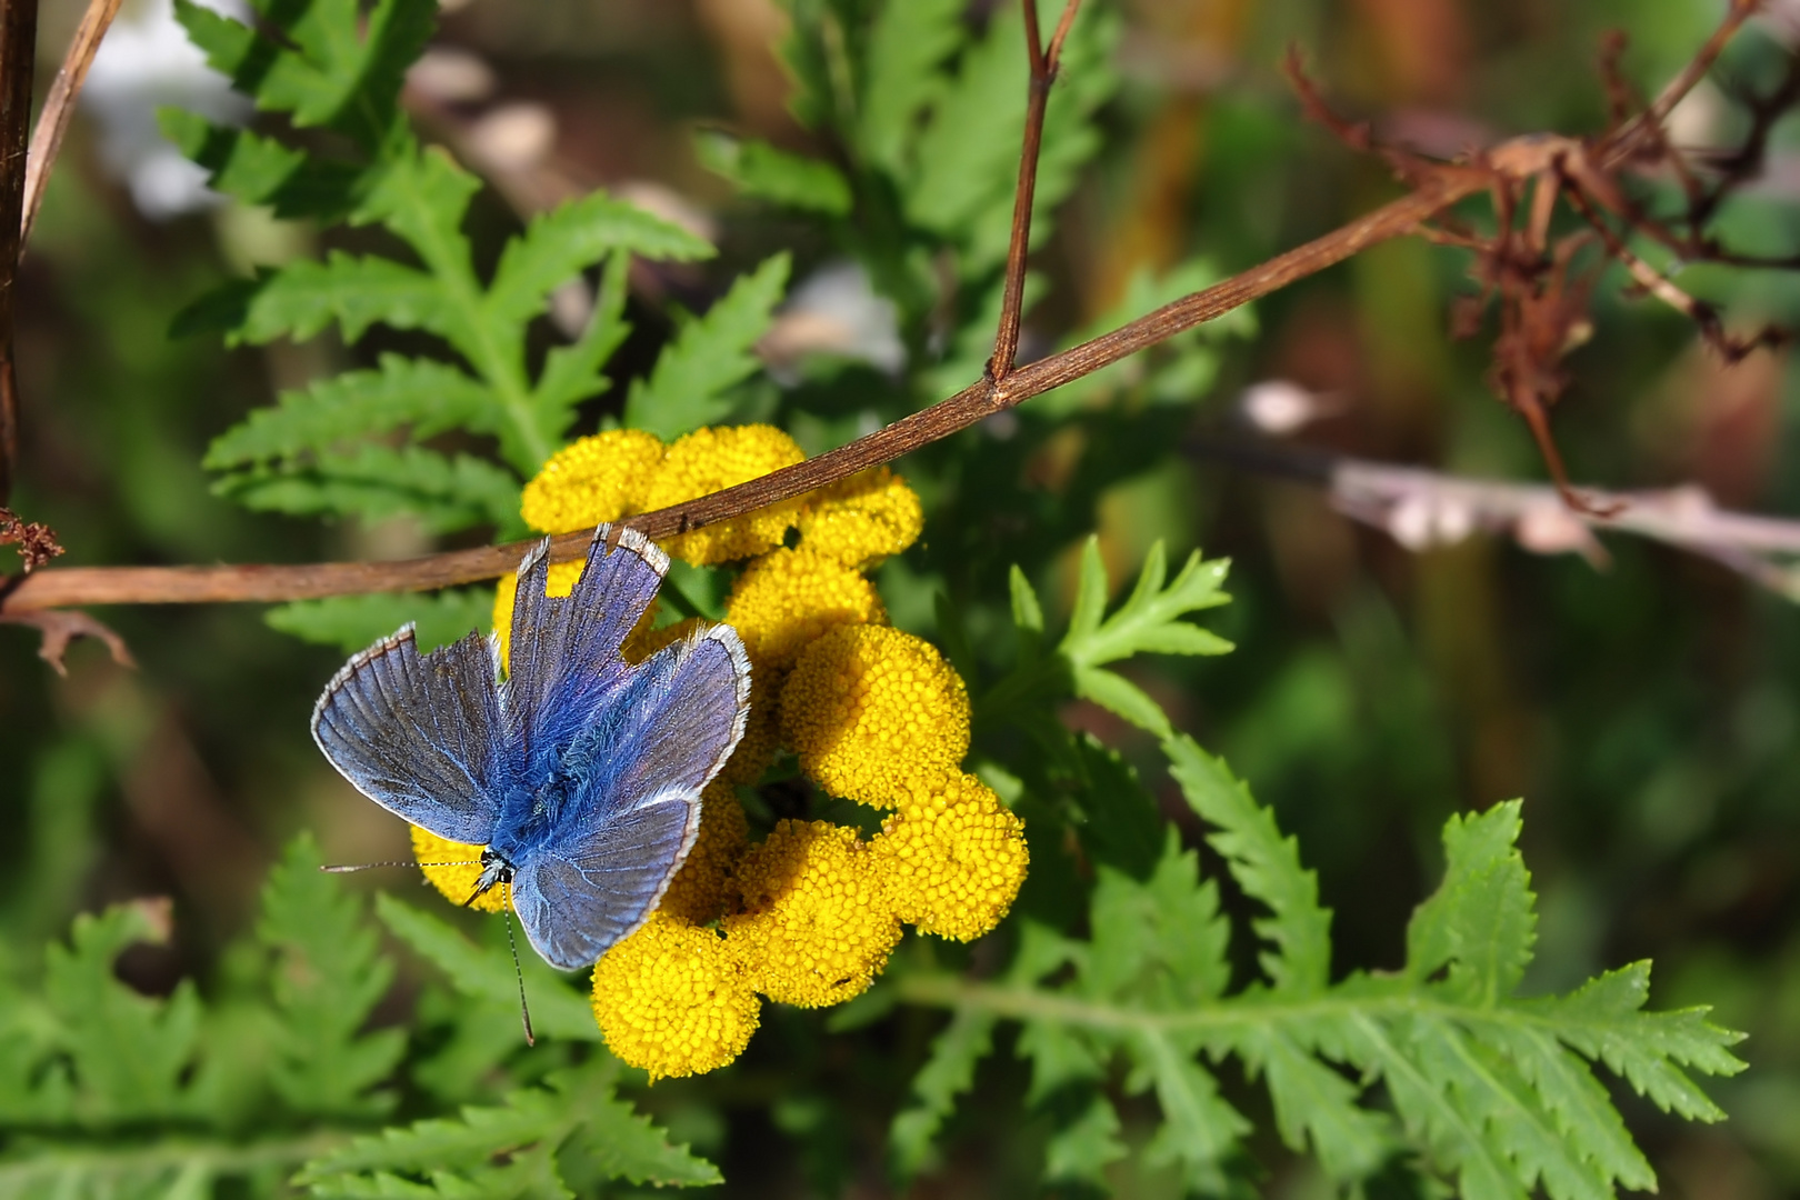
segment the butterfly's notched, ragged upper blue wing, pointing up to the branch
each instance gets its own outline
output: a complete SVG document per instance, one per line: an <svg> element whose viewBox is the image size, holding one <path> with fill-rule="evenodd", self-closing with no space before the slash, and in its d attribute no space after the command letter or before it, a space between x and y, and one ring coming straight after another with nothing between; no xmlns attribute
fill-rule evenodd
<svg viewBox="0 0 1800 1200"><path fill-rule="evenodd" d="M504 709L509 736L535 770L547 770L610 707L608 696L630 675L619 646L668 569L668 554L641 533L612 525L594 531L581 579L565 597L544 594L549 540L518 563Z"/></svg>

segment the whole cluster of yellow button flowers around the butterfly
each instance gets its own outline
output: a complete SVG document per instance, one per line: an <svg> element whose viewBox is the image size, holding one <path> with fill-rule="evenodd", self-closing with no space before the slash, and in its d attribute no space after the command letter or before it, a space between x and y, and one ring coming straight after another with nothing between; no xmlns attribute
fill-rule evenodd
<svg viewBox="0 0 1800 1200"><path fill-rule="evenodd" d="M670 446L617 430L553 457L526 486L522 511L542 533L567 533L799 459L799 446L770 426L697 430ZM725 601L751 657L751 720L702 795L700 833L661 909L594 970L607 1043L652 1078L734 1060L756 1029L760 997L819 1007L862 993L902 923L979 937L1024 882L1022 822L961 770L963 680L931 644L887 626L864 576L922 529L913 489L875 468L664 543L697 565L751 560ZM797 542L785 545L790 533ZM574 587L580 565L571 567L553 569L553 596ZM502 639L515 590L517 581L502 581L495 603ZM639 660L691 626L655 630L646 615L626 657ZM882 831L862 838L824 820L783 820L751 846L734 788L756 783L781 747L823 790L889 810ZM425 833L414 846L421 864L479 856ZM425 871L461 903L479 867ZM477 907L504 903L486 901Z"/></svg>

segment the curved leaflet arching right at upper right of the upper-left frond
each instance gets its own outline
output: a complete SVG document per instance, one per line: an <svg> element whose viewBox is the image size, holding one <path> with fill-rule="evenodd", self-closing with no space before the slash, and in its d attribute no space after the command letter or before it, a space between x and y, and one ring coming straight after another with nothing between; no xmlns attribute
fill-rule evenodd
<svg viewBox="0 0 1800 1200"><path fill-rule="evenodd" d="M644 209L592 193L533 218L524 236L506 243L484 300L490 322L509 326L544 311L562 282L616 252L691 263L713 257L713 246Z"/></svg>

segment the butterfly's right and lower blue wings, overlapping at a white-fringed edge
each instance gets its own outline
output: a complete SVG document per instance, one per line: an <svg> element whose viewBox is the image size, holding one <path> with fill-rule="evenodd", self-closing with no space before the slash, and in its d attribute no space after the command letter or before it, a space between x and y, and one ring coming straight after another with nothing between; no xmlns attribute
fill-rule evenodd
<svg viewBox="0 0 1800 1200"><path fill-rule="evenodd" d="M571 745L572 802L513 878L526 937L563 970L596 963L643 925L688 858L700 790L743 738L743 642L715 626L670 646L614 700Z"/></svg>

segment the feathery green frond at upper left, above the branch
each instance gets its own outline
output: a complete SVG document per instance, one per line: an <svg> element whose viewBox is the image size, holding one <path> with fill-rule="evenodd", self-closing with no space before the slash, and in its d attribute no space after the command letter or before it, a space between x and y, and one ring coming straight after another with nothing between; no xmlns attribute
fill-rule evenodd
<svg viewBox="0 0 1800 1200"><path fill-rule="evenodd" d="M432 533L518 533L522 477L558 448L574 407L608 387L603 367L626 333L628 257L713 252L643 209L592 194L533 218L482 281L463 232L479 182L443 151L419 146L396 108L403 68L423 49L434 11L428 0L387 0L367 18L337 0L299 11L270 4L261 16L272 29L250 29L209 9L180 9L209 61L261 110L284 113L295 128L346 133L358 151L324 160L259 131L167 113L164 128L212 171L214 187L284 216L380 225L412 259L333 250L293 261L202 300L185 326L263 344L311 338L333 324L356 342L382 324L430 333L455 356L383 354L373 369L288 390L218 437L205 466L223 471L220 493L247 507L410 515ZM605 270L587 327L551 351L533 380L531 324L551 291L594 264ZM428 444L450 430L493 437L500 462Z"/></svg>

